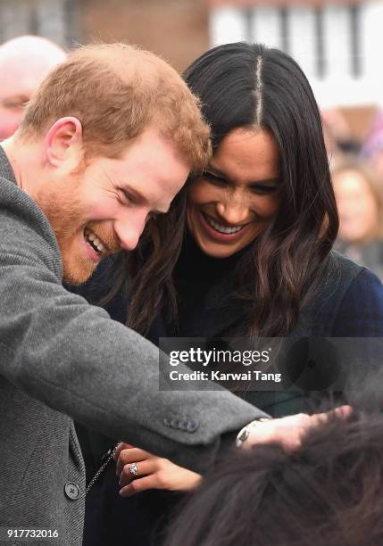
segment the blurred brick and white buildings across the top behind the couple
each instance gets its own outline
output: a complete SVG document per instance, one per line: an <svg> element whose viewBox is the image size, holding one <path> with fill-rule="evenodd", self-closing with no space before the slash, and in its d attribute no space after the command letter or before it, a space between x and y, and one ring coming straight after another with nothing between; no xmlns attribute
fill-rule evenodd
<svg viewBox="0 0 383 546"><path fill-rule="evenodd" d="M236 40L292 54L322 107L383 103L383 0L0 0L0 43L128 41L184 70Z"/></svg>

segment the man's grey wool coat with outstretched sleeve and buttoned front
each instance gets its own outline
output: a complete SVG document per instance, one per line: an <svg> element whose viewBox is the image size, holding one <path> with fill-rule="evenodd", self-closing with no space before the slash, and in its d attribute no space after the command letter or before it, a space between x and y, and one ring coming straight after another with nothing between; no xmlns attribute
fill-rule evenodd
<svg viewBox="0 0 383 546"><path fill-rule="evenodd" d="M160 392L158 350L62 287L46 216L0 146L0 544L80 546L85 472L72 419L196 471L263 414L226 391Z"/></svg>

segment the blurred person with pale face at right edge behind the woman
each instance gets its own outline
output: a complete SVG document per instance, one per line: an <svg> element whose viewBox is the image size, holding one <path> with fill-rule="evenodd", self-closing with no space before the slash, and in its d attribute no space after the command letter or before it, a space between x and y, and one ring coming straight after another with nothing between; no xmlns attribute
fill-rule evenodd
<svg viewBox="0 0 383 546"><path fill-rule="evenodd" d="M336 248L383 279L383 184L371 165L346 158L332 171L339 214Z"/></svg>

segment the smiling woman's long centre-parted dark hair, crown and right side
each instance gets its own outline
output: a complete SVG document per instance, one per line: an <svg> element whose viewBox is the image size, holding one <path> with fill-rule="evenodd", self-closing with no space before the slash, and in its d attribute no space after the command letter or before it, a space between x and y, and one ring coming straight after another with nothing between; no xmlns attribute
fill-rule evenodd
<svg viewBox="0 0 383 546"><path fill-rule="evenodd" d="M279 146L280 211L241 258L234 295L248 333L284 335L315 293L338 228L312 89L289 55L242 42L206 52L184 76L211 125L213 150L235 128L267 130Z"/></svg>

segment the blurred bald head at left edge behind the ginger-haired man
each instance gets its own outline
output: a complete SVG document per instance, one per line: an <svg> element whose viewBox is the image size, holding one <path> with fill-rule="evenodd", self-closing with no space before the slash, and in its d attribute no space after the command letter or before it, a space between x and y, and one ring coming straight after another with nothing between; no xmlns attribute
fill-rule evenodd
<svg viewBox="0 0 383 546"><path fill-rule="evenodd" d="M65 60L61 47L37 36L21 36L0 45L0 141L12 136L37 87Z"/></svg>

